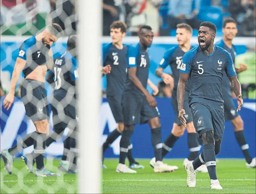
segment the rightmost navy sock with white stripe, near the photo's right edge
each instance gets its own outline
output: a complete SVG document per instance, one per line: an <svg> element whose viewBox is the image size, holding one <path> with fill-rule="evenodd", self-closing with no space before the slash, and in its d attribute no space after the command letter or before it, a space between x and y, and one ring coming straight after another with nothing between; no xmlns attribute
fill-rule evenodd
<svg viewBox="0 0 256 194"><path fill-rule="evenodd" d="M243 130L235 131L236 139L238 144L240 145L241 150L243 151L243 155L245 156L245 160L248 164L252 162L252 157L249 154L249 145L246 143L245 134Z"/></svg>

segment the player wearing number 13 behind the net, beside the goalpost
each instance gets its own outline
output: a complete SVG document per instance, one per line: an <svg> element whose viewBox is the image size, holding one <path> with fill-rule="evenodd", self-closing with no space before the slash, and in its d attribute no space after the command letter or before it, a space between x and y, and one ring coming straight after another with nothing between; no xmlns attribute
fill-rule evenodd
<svg viewBox="0 0 256 194"><path fill-rule="evenodd" d="M59 165L59 170L68 173L75 173L76 169L76 133L77 133L77 114L76 114L76 80L77 72L77 36L72 35L67 40L67 50L62 56L54 59L54 65L47 75L47 81L54 89L51 96L51 108L53 112L53 129L46 139L46 147L61 138L66 127L69 133L64 140L64 152ZM73 163L69 165L67 160L68 152L75 155ZM27 168L33 173L34 151L22 156Z"/></svg>

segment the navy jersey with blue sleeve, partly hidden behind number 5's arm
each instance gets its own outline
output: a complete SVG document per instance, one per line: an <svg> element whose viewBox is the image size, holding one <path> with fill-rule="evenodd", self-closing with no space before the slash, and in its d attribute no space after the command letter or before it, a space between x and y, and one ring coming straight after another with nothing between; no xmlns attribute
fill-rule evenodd
<svg viewBox="0 0 256 194"><path fill-rule="evenodd" d="M174 78L174 90L177 90L178 87L180 77L180 66L184 54L185 52L181 50L179 45L176 45L165 52L159 64L159 66L163 69L170 65L172 70L172 77ZM186 83L186 91L189 91L188 81Z"/></svg>

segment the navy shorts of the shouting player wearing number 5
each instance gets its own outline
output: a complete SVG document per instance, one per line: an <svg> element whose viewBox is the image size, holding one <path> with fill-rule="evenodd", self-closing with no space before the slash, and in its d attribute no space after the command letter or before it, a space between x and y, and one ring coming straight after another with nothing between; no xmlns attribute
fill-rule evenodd
<svg viewBox="0 0 256 194"><path fill-rule="evenodd" d="M216 110L206 104L193 103L190 105L193 123L199 137L209 130L213 130L214 139L222 139L225 120L224 110Z"/></svg>

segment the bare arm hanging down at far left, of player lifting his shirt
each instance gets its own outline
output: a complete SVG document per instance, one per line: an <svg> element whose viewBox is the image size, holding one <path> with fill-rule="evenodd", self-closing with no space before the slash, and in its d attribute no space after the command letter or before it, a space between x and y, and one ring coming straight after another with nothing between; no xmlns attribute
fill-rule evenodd
<svg viewBox="0 0 256 194"><path fill-rule="evenodd" d="M13 69L13 75L11 76L10 91L4 99L4 108L9 110L14 101L15 88L18 83L20 73L24 69L26 61L21 58L16 59L16 63Z"/></svg>

